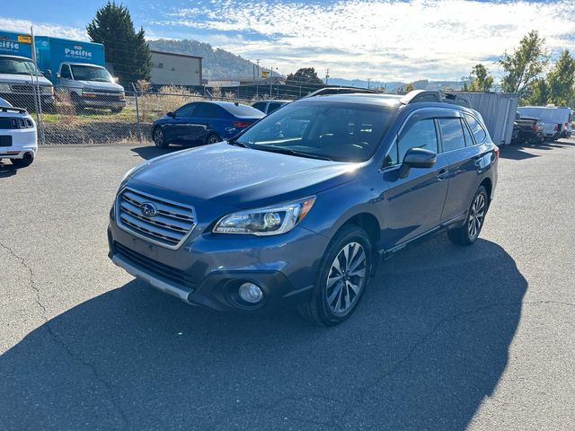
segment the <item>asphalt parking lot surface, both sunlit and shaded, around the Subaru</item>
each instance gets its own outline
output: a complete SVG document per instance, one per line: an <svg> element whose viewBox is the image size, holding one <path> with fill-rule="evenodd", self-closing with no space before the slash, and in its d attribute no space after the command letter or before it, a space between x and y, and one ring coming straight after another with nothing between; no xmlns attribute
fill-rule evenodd
<svg viewBox="0 0 575 431"><path fill-rule="evenodd" d="M0 429L572 429L575 141L503 149L480 241L385 261L332 329L190 307L111 264L119 180L159 154L0 163Z"/></svg>

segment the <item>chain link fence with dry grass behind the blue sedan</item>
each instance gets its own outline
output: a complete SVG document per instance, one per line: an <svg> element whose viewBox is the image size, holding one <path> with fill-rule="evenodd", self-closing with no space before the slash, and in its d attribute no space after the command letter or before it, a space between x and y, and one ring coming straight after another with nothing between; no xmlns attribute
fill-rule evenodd
<svg viewBox="0 0 575 431"><path fill-rule="evenodd" d="M121 92L107 83L52 87L34 84L32 79L32 84L10 85L0 91L0 97L31 113L40 145L92 145L151 142L155 119L190 101L252 105L265 99L295 100L316 90L276 84L222 88L139 83L130 87Z"/></svg>

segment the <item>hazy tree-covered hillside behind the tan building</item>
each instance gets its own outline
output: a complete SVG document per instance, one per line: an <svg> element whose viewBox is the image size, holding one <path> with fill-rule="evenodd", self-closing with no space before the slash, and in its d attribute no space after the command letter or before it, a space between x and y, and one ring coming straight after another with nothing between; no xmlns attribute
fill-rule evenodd
<svg viewBox="0 0 575 431"><path fill-rule="evenodd" d="M204 79L252 79L253 63L225 49L213 48L198 40L149 40L150 48L158 51L202 57ZM260 67L260 70L268 70Z"/></svg>

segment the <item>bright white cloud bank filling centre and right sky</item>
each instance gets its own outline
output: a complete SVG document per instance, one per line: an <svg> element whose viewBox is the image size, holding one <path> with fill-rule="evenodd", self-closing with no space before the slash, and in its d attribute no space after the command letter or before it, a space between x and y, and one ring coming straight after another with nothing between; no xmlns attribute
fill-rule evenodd
<svg viewBox="0 0 575 431"><path fill-rule="evenodd" d="M225 48L265 58L281 73L300 66L332 76L381 80L459 78L479 61L500 57L538 30L550 48L575 48L571 1L485 3L464 0L339 1L331 5L214 1L165 14L155 24L259 33L262 40L226 40ZM156 30L157 31L157 30ZM158 31L159 32L159 31Z"/></svg>

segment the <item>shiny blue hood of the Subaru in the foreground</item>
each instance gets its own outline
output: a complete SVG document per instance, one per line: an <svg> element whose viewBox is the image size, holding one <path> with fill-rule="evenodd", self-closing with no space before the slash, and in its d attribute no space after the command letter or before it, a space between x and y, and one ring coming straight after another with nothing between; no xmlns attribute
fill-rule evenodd
<svg viewBox="0 0 575 431"><path fill-rule="evenodd" d="M338 186L355 178L360 166L220 143L152 159L132 174L128 185L144 182L194 200L259 207Z"/></svg>

